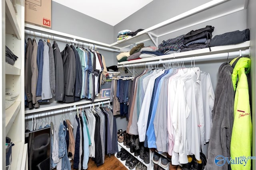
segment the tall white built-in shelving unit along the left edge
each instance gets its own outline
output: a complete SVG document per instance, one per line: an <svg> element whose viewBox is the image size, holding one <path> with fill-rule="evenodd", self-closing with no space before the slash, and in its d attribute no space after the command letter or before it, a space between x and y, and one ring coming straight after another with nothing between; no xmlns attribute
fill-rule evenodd
<svg viewBox="0 0 256 170"><path fill-rule="evenodd" d="M10 170L25 169L27 145L24 144L24 0L17 2L16 10L11 0L1 3L2 11L2 145L5 138L10 137L14 143L12 147L12 163ZM5 63L5 46L16 56L17 61L12 66ZM5 93L19 92L19 96L12 106L5 109ZM5 169L5 147L2 147L1 168Z"/></svg>

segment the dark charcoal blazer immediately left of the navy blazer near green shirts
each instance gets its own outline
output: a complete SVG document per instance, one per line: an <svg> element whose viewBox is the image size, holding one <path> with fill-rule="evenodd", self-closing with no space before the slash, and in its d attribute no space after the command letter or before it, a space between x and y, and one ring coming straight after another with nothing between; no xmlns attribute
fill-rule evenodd
<svg viewBox="0 0 256 170"><path fill-rule="evenodd" d="M65 96L63 102L75 101L75 82L76 82L76 58L73 49L66 44L61 52L65 77Z"/></svg>

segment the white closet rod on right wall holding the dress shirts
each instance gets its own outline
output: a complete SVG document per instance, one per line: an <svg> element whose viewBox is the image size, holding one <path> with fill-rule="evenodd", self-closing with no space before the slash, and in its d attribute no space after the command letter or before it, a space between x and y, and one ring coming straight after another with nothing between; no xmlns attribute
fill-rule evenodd
<svg viewBox="0 0 256 170"><path fill-rule="evenodd" d="M152 61L152 62L146 62L146 63L136 63L136 64L124 64L124 65L118 65L117 67L132 67L132 66L144 66L144 65L150 65L150 64L164 64L164 63L170 63L170 62L186 62L186 61L196 61L196 60L210 60L210 59L220 59L220 58L232 58L232 57L238 57L241 55L250 55L250 49L246 49L243 51L234 51L234 52L227 52L227 53L219 53L219 54L211 54L211 55L201 55L201 56L195 56L195 57L185 57L185 58L178 58L178 59L169 59L169 60L163 60L163 61Z"/></svg>

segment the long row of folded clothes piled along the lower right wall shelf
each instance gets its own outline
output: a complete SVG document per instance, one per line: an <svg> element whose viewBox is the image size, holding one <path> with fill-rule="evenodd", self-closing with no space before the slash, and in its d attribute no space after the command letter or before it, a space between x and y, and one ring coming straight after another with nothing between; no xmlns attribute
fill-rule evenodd
<svg viewBox="0 0 256 170"><path fill-rule="evenodd" d="M141 59L143 57L155 57L171 53L204 49L208 47L211 51L210 47L220 45L234 45L250 40L249 29L244 29L243 31L237 30L227 32L221 35L215 35L212 38L213 31L214 27L207 25L204 28L192 30L185 35L180 35L172 39L164 40L158 45L158 47L149 46L146 49L142 49L144 47L143 43L138 44L135 47L126 47L120 49L120 54L117 55L117 59L118 62L130 61L134 59ZM152 49L154 50L152 51ZM131 53L135 50L135 53Z"/></svg>

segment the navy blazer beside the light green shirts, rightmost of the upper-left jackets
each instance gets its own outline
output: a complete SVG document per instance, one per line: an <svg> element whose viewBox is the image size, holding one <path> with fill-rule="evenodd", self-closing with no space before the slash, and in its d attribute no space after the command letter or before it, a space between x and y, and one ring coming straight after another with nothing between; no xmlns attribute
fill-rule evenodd
<svg viewBox="0 0 256 170"><path fill-rule="evenodd" d="M73 49L75 58L76 58L76 82L75 82L75 101L80 100L81 91L82 91L82 66L80 57L74 45L70 45Z"/></svg>

